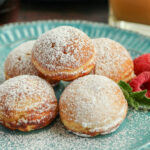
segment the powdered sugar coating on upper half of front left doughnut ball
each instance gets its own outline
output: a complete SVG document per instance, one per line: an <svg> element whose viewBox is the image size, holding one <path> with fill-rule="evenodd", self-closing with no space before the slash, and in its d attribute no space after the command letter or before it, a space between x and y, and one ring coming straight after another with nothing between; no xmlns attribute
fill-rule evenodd
<svg viewBox="0 0 150 150"><path fill-rule="evenodd" d="M52 104L54 101L56 98L52 87L37 76L17 76L0 85L0 113L6 117L11 116L10 113L4 113L6 110L34 110L36 115L36 112L56 108L56 104Z"/></svg>

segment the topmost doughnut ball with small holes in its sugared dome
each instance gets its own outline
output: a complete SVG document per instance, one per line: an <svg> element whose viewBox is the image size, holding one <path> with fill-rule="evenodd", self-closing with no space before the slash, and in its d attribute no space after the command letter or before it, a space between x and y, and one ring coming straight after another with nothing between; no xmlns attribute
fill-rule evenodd
<svg viewBox="0 0 150 150"><path fill-rule="evenodd" d="M60 26L41 35L34 44L32 62L53 80L70 81L84 76L95 66L92 40L82 31Z"/></svg>

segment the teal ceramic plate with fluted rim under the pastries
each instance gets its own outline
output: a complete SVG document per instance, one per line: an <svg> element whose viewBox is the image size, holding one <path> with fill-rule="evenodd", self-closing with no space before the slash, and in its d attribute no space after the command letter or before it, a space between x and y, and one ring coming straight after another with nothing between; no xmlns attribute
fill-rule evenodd
<svg viewBox="0 0 150 150"><path fill-rule="evenodd" d="M105 24L85 21L39 21L10 24L0 28L0 81L4 81L3 63L8 53L17 45L36 39L43 32L60 25L80 28L91 38L108 37L123 44L132 57L150 52L150 38L134 32L113 28ZM59 97L64 89L62 82L55 88ZM77 149L77 150L149 150L150 112L129 110L119 129L105 136L81 138L64 129L59 118L51 125L29 133L10 131L0 125L0 149Z"/></svg>

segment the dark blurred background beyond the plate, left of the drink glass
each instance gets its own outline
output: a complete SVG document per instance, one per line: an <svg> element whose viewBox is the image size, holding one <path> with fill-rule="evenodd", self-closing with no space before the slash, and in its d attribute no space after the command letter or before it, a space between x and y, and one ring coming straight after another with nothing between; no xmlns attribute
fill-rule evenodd
<svg viewBox="0 0 150 150"><path fill-rule="evenodd" d="M48 19L108 22L107 0L0 0L0 24Z"/></svg>

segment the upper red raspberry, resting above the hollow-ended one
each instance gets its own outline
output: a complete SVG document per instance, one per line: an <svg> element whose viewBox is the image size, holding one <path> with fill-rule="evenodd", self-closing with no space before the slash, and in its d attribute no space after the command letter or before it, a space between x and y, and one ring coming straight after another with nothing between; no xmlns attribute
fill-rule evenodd
<svg viewBox="0 0 150 150"><path fill-rule="evenodd" d="M134 72L136 75L150 71L150 54L143 54L134 59Z"/></svg>

